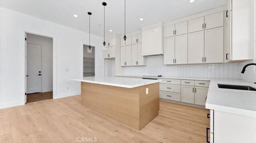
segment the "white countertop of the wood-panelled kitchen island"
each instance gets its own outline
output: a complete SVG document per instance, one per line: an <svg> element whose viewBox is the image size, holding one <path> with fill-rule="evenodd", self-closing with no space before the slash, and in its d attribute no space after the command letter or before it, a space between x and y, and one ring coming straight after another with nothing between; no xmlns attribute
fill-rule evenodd
<svg viewBox="0 0 256 143"><path fill-rule="evenodd" d="M134 88L134 87L157 83L157 82L161 81L161 80L122 78L122 77L96 78L94 76L83 77L83 79L71 78L71 80L76 80L76 81L81 81L81 82L90 82L90 83L96 83L96 84L104 84L104 85L110 85L110 86L125 87L125 88Z"/></svg>

